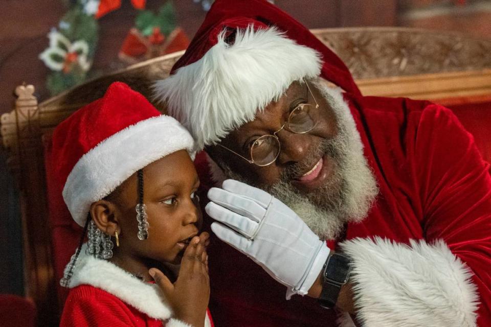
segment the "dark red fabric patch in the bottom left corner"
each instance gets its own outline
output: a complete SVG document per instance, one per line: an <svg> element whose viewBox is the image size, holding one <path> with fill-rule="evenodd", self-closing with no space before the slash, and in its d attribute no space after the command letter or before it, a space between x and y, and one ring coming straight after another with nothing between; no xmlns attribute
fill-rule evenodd
<svg viewBox="0 0 491 327"><path fill-rule="evenodd" d="M36 307L24 297L0 294L0 321L2 327L35 327Z"/></svg>

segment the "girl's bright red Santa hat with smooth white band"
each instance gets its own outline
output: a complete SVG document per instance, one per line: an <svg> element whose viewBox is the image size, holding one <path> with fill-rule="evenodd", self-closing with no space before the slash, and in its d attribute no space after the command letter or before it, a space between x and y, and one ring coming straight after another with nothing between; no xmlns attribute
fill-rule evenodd
<svg viewBox="0 0 491 327"><path fill-rule="evenodd" d="M93 202L139 169L178 150L194 156L189 132L121 82L58 125L52 142L63 199L81 226Z"/></svg>

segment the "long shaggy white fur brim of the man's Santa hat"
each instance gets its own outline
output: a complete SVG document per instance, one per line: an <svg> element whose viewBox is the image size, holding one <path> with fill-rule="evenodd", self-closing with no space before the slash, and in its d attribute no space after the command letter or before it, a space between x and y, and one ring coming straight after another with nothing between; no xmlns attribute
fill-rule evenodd
<svg viewBox="0 0 491 327"><path fill-rule="evenodd" d="M238 30L234 44L218 42L198 61L157 81L154 96L194 136L197 149L216 144L254 120L257 110L280 98L288 86L320 74L320 54L276 28Z"/></svg>

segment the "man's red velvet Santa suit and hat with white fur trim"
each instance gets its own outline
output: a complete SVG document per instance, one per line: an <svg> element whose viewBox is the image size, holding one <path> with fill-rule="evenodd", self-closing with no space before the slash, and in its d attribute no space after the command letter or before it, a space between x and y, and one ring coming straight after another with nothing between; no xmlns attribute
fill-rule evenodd
<svg viewBox="0 0 491 327"><path fill-rule="evenodd" d="M262 0L215 1L155 90L203 147L254 120L292 82L317 76L344 90L345 103L340 91L330 90L330 97L351 113L380 189L362 222L326 242L353 260L356 318L369 327L490 326L489 165L450 110L363 97L334 53ZM198 170L213 186L206 162ZM218 239L208 253L217 326L353 325L349 315L313 298L286 300L284 286Z"/></svg>

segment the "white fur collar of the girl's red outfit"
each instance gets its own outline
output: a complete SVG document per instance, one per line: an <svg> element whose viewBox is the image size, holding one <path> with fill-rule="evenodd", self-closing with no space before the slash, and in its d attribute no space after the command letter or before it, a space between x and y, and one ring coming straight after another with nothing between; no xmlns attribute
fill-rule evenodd
<svg viewBox="0 0 491 327"><path fill-rule="evenodd" d="M171 309L157 285L144 283L118 266L86 254L86 248L85 243L75 264L70 288L91 285L117 296L151 318L166 320L171 317Z"/></svg>

